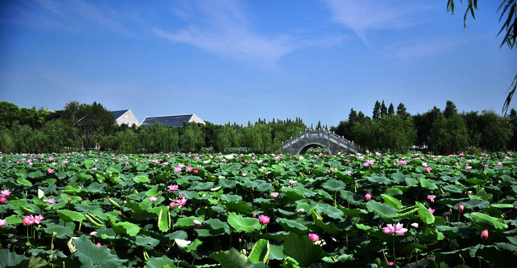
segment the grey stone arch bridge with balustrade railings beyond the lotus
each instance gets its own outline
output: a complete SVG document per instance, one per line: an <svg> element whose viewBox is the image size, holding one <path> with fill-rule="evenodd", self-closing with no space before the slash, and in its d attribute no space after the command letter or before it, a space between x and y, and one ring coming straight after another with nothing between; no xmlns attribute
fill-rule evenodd
<svg viewBox="0 0 517 268"><path fill-rule="evenodd" d="M305 154L309 148L316 146L327 149L331 155L340 151L345 153L360 152L359 146L352 141L327 130L306 130L282 143L283 151L291 154Z"/></svg>

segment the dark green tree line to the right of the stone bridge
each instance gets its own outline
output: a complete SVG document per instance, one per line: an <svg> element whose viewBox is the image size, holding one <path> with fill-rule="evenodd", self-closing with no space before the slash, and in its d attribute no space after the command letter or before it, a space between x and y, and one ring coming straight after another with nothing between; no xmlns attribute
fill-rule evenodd
<svg viewBox="0 0 517 268"><path fill-rule="evenodd" d="M452 101L446 102L443 112L434 106L416 115L407 113L403 103L395 111L393 104L386 107L384 101L376 101L371 118L352 108L348 120L330 130L370 151L405 153L414 147L435 154L450 154L517 148L515 109L504 117L493 110L458 113Z"/></svg>

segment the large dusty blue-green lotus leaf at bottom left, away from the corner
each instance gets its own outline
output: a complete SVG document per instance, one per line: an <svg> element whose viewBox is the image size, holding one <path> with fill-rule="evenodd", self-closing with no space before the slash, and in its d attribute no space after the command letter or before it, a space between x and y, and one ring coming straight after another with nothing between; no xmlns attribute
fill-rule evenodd
<svg viewBox="0 0 517 268"><path fill-rule="evenodd" d="M118 267L127 260L119 260L117 256L110 254L107 246L96 246L86 235L79 239L73 239L77 251L74 253L79 258L82 267Z"/></svg>

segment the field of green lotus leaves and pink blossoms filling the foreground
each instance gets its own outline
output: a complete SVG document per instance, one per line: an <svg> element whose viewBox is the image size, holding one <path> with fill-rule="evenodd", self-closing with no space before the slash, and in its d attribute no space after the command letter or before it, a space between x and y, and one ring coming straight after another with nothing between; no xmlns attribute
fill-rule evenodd
<svg viewBox="0 0 517 268"><path fill-rule="evenodd" d="M2 154L0 267L515 267L503 154Z"/></svg>

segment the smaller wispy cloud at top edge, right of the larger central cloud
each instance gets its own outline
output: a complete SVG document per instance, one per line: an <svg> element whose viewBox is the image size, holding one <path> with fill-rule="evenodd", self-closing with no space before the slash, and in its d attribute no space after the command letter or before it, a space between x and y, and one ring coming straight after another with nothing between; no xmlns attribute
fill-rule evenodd
<svg viewBox="0 0 517 268"><path fill-rule="evenodd" d="M405 28L424 23L422 12L436 6L415 1L323 0L332 20L369 44L368 30Z"/></svg>

